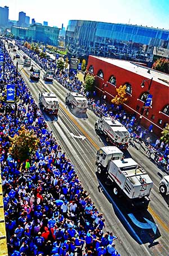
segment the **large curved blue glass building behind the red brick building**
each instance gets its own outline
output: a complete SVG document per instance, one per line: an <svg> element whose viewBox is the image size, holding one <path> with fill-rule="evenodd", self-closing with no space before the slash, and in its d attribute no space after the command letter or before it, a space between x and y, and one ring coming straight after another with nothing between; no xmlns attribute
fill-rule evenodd
<svg viewBox="0 0 169 256"><path fill-rule="evenodd" d="M99 55L150 59L153 47L169 49L169 31L139 25L69 20L68 53L74 57ZM125 58L124 58L125 59Z"/></svg>

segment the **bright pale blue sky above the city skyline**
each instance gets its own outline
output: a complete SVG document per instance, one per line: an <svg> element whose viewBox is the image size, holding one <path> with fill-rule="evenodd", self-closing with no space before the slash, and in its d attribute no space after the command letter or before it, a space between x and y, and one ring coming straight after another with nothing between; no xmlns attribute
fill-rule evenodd
<svg viewBox="0 0 169 256"><path fill-rule="evenodd" d="M84 19L169 29L169 0L0 0L5 5L11 20L24 11L36 22L59 28L70 19Z"/></svg>

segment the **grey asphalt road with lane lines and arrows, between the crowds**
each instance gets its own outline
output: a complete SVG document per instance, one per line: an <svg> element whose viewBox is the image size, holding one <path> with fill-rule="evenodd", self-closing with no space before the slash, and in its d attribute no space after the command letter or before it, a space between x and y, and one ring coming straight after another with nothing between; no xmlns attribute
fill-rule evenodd
<svg viewBox="0 0 169 256"><path fill-rule="evenodd" d="M19 54L25 55L21 51ZM21 58L18 62L23 63L23 59ZM34 62L32 63L37 66ZM149 173L154 183L149 209L147 211L131 210L123 198L115 198L111 186L105 184L103 177L96 175L96 151L106 145L104 138L97 136L94 130L97 117L90 110L87 111L87 115L81 116L70 111L64 101L67 90L56 81L53 84L45 83L43 71L38 83L30 83L29 69L24 68L21 73L35 101L38 103L38 93L42 90L54 92L60 100L58 118L43 112L48 128L52 129L57 141L66 152L66 157L74 164L84 189L90 192L90 197L97 209L103 212L106 230L118 236L118 240L115 241L116 249L123 256L168 256L168 198L163 198L158 192L158 184L164 173L146 157L144 149L139 144L130 146L126 154L130 154Z"/></svg>

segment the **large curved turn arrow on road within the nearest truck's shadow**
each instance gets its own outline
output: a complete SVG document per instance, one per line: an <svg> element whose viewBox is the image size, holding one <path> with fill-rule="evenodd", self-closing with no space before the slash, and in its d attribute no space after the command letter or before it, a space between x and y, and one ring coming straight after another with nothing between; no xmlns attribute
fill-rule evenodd
<svg viewBox="0 0 169 256"><path fill-rule="evenodd" d="M143 228L143 229L153 229L154 235L157 232L157 225L154 222L151 222L150 220L145 219L146 223L143 222L139 222L139 220L137 220L134 216L134 214L128 214L128 217L132 220L132 222L139 228Z"/></svg>

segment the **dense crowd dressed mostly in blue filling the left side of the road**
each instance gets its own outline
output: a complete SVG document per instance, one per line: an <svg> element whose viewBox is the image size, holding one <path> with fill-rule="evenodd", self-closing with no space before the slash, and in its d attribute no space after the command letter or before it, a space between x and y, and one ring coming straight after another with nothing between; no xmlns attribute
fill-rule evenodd
<svg viewBox="0 0 169 256"><path fill-rule="evenodd" d="M10 256L119 255L112 232L73 164L48 131L42 112L5 50L1 86L0 152L7 247ZM2 67L0 67L2 72ZM73 79L72 79L73 80ZM15 106L5 103L5 84L17 84ZM74 82L73 82L74 83ZM16 120L15 120L16 118ZM9 153L11 137L25 127L39 138L38 149L20 162Z"/></svg>

